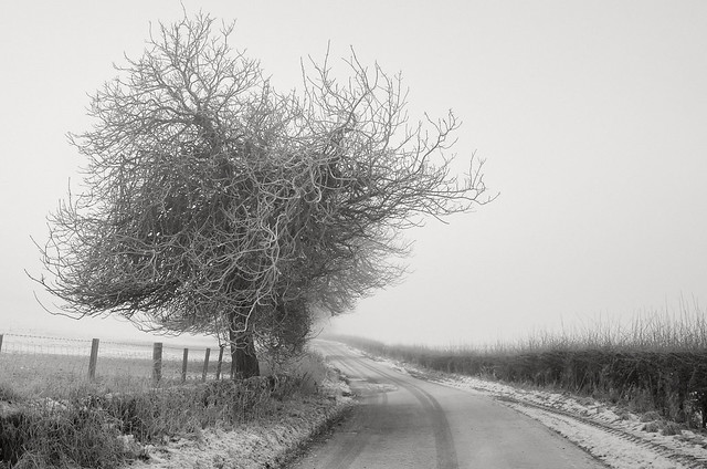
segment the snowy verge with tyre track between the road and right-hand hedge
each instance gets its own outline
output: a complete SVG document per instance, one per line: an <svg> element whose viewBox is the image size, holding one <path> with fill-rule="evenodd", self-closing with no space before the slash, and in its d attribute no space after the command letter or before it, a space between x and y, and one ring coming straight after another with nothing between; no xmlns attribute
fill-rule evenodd
<svg viewBox="0 0 707 469"><path fill-rule="evenodd" d="M707 468L707 434L678 428L657 415L640 416L568 393L524 389L380 357L376 361L423 379L495 398L540 421L613 469Z"/></svg>

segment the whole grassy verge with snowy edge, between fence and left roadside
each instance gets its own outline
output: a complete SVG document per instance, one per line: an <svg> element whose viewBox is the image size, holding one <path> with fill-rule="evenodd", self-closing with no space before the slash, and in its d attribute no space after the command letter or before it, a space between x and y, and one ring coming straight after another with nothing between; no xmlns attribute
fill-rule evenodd
<svg viewBox="0 0 707 469"><path fill-rule="evenodd" d="M306 354L283 372L157 388L145 381L112 387L46 376L14 388L4 381L0 467L115 468L139 460L151 467L265 467L347 405L320 356ZM45 389L38 393L40 381ZM275 456L263 450L273 441L282 449ZM238 461L233 451L240 451ZM247 451L253 454L244 457ZM247 460L265 462L242 466Z"/></svg>

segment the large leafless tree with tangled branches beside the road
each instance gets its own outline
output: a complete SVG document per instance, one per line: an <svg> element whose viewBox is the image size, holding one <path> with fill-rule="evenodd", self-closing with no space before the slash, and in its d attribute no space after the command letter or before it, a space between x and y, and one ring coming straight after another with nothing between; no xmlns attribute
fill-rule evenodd
<svg viewBox="0 0 707 469"><path fill-rule="evenodd" d="M398 278L402 230L490 198L473 158L450 175L453 114L408 125L399 76L352 54L344 85L325 59L279 94L231 32L160 24L93 96L94 127L70 134L85 189L50 216L35 280L77 317L218 335L247 377L256 344L296 350L316 311Z"/></svg>

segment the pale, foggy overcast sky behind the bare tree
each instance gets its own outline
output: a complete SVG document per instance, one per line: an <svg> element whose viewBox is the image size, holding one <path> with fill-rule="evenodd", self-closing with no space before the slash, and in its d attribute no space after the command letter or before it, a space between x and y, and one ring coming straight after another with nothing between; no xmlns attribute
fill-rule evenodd
<svg viewBox="0 0 707 469"><path fill-rule="evenodd" d="M354 48L402 72L411 118L463 122L499 197L409 230L411 273L333 320L341 333L431 345L704 312L707 302L707 2L192 1L236 21L232 44L278 90L300 60ZM66 139L89 128L88 94L138 58L176 1L22 1L0 17L0 333L140 336L125 321L46 313L31 237L85 163ZM697 305L695 305L697 304Z"/></svg>

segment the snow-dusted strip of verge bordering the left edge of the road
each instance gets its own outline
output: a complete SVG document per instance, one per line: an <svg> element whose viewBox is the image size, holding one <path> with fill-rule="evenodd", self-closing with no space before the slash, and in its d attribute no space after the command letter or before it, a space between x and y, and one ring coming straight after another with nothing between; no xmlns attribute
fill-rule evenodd
<svg viewBox="0 0 707 469"><path fill-rule="evenodd" d="M149 459L125 467L136 469L258 469L276 468L352 405L342 383L325 383L324 393L286 399L268 419L207 428L198 435L147 447Z"/></svg>

